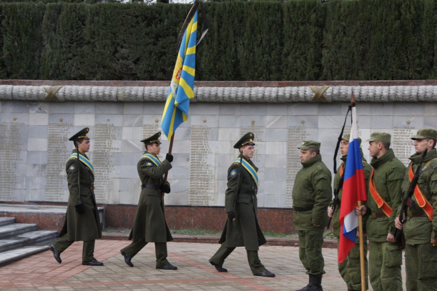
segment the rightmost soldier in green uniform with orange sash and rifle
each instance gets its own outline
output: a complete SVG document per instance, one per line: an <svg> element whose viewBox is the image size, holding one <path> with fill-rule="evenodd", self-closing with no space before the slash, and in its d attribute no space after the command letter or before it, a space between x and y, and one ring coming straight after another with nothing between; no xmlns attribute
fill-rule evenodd
<svg viewBox="0 0 437 291"><path fill-rule="evenodd" d="M402 184L404 198L425 149L428 152L414 194L407 203L407 221L402 225L396 217L395 224L396 228L404 229L407 290L428 291L437 288L437 131L424 128L411 139L416 153L410 157Z"/></svg>

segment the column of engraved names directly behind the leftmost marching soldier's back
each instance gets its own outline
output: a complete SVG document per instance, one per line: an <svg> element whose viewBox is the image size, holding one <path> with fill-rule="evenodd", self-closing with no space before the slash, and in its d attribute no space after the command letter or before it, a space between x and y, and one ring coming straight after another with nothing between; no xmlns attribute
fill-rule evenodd
<svg viewBox="0 0 437 291"><path fill-rule="evenodd" d="M45 197L47 201L64 201L67 185L65 164L71 152L66 141L69 138L71 123L49 123L47 144L47 176ZM71 142L72 143L72 142Z"/></svg>

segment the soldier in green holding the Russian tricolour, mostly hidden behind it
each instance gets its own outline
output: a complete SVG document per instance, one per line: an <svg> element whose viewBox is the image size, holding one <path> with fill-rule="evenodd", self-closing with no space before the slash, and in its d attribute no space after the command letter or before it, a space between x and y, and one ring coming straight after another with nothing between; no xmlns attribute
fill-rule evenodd
<svg viewBox="0 0 437 291"><path fill-rule="evenodd" d="M333 213L332 207L328 208L328 216L333 218L332 230L334 232L334 235L337 237L337 243L339 242L339 238L340 238L340 205L341 205L341 195L343 192L341 185L343 184L342 180L344 178L344 169L346 165L346 159L348 157L349 138L350 138L349 133L344 134L340 142L340 153L342 156L341 157L342 163L340 167L337 169L337 173L334 176L334 187L337 188L340 186L339 189L337 189L338 202L335 207L335 212ZM359 139L359 144L361 145L361 139ZM369 187L369 178L372 172L372 167L367 163L366 159L364 158L361 148L360 151L361 151L362 165L364 169L364 177L366 179L366 185L367 187ZM367 238L366 237L364 237L364 256L365 256L364 260L365 260L365 268L366 268L365 280L366 280L366 290L367 290L368 270L367 270ZM345 259L342 263L338 263L338 271L340 272L341 278L343 278L344 282L346 282L346 284L348 285L348 291L361 290L359 238L357 238L355 246L349 252L347 259Z"/></svg>

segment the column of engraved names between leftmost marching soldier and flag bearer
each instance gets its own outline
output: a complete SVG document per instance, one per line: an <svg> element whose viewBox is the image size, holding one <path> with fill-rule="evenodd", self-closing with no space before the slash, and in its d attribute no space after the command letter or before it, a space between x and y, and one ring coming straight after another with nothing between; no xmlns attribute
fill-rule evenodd
<svg viewBox="0 0 437 291"><path fill-rule="evenodd" d="M114 125L98 123L94 127L94 179L96 201L107 202L106 193L112 191L112 172L114 170L113 141ZM109 197L109 195L108 195ZM110 201L111 202L111 201Z"/></svg>

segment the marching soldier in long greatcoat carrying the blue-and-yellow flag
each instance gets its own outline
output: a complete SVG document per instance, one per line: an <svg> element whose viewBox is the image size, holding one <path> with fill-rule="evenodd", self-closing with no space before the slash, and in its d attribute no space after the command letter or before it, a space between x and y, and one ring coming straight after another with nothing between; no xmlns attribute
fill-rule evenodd
<svg viewBox="0 0 437 291"><path fill-rule="evenodd" d="M167 242L172 241L173 238L164 216L162 197L162 192L170 193L170 184L164 184L163 175L172 168L173 156L167 153L166 159L162 163L159 161L160 135L161 132L157 132L141 141L146 150L137 165L141 180L141 195L134 226L129 236L132 243L120 252L124 257L124 262L133 267L132 258L149 242L154 242L156 268L176 270L177 267L167 260Z"/></svg>

